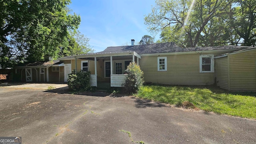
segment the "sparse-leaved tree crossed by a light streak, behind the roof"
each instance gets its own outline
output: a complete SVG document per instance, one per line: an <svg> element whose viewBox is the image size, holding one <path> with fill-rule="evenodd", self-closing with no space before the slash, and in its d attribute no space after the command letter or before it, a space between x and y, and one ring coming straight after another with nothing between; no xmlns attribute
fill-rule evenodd
<svg viewBox="0 0 256 144"><path fill-rule="evenodd" d="M216 40L211 43L215 44L219 36L210 34L221 31L215 27L214 18L226 14L232 2L234 0L156 0L156 6L144 20L150 32L161 32L163 42L195 47L203 45L200 39L214 37Z"/></svg>

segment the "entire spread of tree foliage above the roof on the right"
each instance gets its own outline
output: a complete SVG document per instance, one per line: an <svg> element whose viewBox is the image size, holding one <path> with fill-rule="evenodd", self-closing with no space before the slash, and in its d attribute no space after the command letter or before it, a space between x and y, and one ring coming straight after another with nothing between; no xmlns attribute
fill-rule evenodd
<svg viewBox="0 0 256 144"><path fill-rule="evenodd" d="M256 45L255 0L156 0L144 20L181 47Z"/></svg>

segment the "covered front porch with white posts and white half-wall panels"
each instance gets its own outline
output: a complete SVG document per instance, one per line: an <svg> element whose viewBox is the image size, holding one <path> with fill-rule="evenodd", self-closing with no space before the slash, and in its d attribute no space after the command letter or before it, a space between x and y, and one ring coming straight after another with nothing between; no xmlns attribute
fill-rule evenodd
<svg viewBox="0 0 256 144"><path fill-rule="evenodd" d="M140 55L136 52L121 52L110 54L86 54L74 56L74 69L91 72L91 86L105 83L110 87L122 87L125 82L125 70L130 62L139 64ZM73 63L74 62L74 63ZM80 67L81 66L81 67Z"/></svg>

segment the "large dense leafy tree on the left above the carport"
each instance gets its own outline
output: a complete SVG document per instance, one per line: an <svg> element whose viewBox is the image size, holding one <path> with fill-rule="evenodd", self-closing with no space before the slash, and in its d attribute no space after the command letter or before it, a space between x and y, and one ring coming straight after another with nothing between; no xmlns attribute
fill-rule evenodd
<svg viewBox="0 0 256 144"><path fill-rule="evenodd" d="M70 14L70 0L0 0L0 64L58 57L60 46L80 16Z"/></svg>

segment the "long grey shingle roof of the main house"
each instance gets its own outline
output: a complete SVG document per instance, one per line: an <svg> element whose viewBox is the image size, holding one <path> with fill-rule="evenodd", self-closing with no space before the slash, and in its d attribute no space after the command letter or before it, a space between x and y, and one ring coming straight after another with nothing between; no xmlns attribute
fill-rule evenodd
<svg viewBox="0 0 256 144"><path fill-rule="evenodd" d="M92 54L110 54L110 53L121 53L121 52L136 52L137 54L155 54L155 53L171 53L171 52L196 52L205 50L239 50L250 48L249 46L208 46L208 47L196 47L196 48L180 48L174 42L158 43L158 44L144 44L135 46L110 46L102 52L81 54L81 55L92 55ZM80 55L80 56L81 56ZM66 56L64 58L74 58L74 56Z"/></svg>

